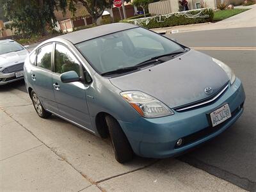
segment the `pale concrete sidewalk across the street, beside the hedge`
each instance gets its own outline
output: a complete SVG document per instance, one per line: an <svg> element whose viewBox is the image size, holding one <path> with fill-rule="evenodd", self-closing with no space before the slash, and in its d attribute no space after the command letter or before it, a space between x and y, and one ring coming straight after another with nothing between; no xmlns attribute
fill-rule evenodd
<svg viewBox="0 0 256 192"><path fill-rule="evenodd" d="M234 15L233 17L229 17L228 19L221 20L216 23L205 23L205 24L193 24L186 26L175 26L170 28L158 28L151 29L152 31L156 31L157 33L166 34L172 33L173 30L182 32L188 31L206 31L206 30L214 30L214 29L231 29L231 28L252 28L256 27L256 4L252 6L243 6L243 8L251 8L251 10L247 10L246 12L239 13Z"/></svg>

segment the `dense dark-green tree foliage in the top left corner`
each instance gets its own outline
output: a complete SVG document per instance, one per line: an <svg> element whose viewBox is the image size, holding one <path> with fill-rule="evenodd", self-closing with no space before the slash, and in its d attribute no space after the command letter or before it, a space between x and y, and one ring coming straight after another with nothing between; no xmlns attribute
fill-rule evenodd
<svg viewBox="0 0 256 192"><path fill-rule="evenodd" d="M22 36L47 34L47 27L54 28L57 3L65 12L66 0L0 0L4 16L12 20L10 28Z"/></svg>

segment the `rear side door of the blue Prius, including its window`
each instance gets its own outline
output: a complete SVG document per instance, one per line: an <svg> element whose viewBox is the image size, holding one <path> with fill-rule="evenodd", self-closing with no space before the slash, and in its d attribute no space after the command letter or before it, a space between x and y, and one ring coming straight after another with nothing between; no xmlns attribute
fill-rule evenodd
<svg viewBox="0 0 256 192"><path fill-rule="evenodd" d="M52 51L52 43L38 49L35 65L31 67L31 82L44 108L57 113L58 106L52 89Z"/></svg>

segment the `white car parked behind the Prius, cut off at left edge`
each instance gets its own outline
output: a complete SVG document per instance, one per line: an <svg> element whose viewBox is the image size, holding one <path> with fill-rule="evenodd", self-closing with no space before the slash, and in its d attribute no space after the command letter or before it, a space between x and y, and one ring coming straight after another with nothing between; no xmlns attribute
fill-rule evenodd
<svg viewBox="0 0 256 192"><path fill-rule="evenodd" d="M27 48L10 39L0 40L0 85L24 79Z"/></svg>

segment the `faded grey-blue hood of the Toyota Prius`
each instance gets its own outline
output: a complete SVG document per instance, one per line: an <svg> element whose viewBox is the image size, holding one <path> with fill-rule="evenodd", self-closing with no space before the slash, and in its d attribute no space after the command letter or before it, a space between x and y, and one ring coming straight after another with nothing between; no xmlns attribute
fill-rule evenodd
<svg viewBox="0 0 256 192"><path fill-rule="evenodd" d="M228 80L226 72L210 56L193 50L154 67L109 79L122 91L147 93L170 108L207 99ZM205 94L207 87L212 88L211 95Z"/></svg>

